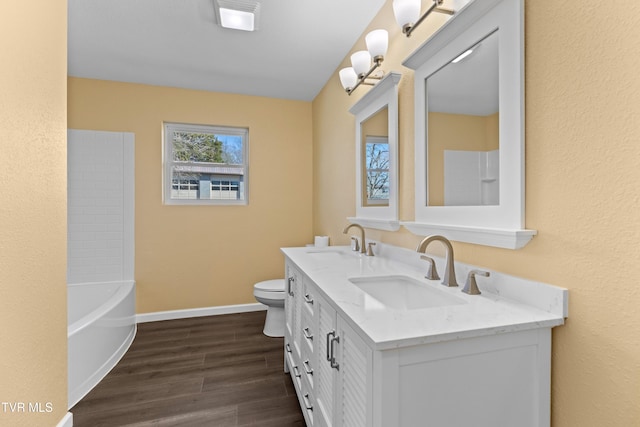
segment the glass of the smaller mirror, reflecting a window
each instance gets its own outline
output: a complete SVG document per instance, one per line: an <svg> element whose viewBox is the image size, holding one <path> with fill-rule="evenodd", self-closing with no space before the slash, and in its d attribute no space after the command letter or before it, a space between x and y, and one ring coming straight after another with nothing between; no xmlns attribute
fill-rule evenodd
<svg viewBox="0 0 640 427"><path fill-rule="evenodd" d="M389 206L389 114L385 106L361 123L362 204Z"/></svg>

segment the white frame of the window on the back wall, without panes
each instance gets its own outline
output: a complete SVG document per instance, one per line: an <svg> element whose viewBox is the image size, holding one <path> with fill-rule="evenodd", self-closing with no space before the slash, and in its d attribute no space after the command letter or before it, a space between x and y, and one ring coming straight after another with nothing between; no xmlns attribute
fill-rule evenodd
<svg viewBox="0 0 640 427"><path fill-rule="evenodd" d="M225 165L231 167L241 167L243 169L242 182L240 184L240 192L242 194L241 199L175 199L171 197L171 191L173 187L173 170L177 162L173 160L173 140L170 137L173 132L195 132L195 133L213 133L216 135L234 135L242 138L242 161L241 165L220 164L221 167ZM187 123L175 123L164 122L162 133L162 201L165 205L247 205L249 203L249 129L232 127L232 126L217 126L217 125L201 125L201 124L187 124ZM213 165L213 163L197 163L193 165L206 166ZM214 175L212 173L212 175ZM215 173L220 180L219 174ZM233 175L229 175L229 178L225 180L233 181Z"/></svg>

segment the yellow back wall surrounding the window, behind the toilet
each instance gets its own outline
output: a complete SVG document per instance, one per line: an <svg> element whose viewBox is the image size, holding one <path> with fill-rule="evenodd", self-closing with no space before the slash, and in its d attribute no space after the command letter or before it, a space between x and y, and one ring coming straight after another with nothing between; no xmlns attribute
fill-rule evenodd
<svg viewBox="0 0 640 427"><path fill-rule="evenodd" d="M135 133L139 313L255 303L312 241L311 103L69 79L69 128ZM249 128L247 206L162 204L162 123Z"/></svg>

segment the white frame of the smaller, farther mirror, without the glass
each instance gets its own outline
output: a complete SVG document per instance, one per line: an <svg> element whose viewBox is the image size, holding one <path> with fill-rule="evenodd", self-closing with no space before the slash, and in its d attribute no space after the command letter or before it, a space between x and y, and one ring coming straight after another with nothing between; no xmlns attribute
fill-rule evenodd
<svg viewBox="0 0 640 427"><path fill-rule="evenodd" d="M396 231L398 220L398 83L402 74L390 72L356 102L349 112L356 118L356 216L347 220L367 228ZM362 124L383 108L388 114L389 204L366 206L363 200Z"/></svg>

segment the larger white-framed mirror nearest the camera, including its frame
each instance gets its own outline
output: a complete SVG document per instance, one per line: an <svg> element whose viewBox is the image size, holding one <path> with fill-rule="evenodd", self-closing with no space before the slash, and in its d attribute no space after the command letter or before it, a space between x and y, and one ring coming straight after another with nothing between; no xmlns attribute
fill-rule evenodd
<svg viewBox="0 0 640 427"><path fill-rule="evenodd" d="M476 0L404 63L415 70L418 235L517 249L524 230L524 0Z"/></svg>

